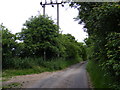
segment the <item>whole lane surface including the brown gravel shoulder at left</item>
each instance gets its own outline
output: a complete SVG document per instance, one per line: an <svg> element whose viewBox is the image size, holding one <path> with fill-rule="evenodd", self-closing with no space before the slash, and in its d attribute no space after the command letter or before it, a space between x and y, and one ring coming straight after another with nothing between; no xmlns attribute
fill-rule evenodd
<svg viewBox="0 0 120 90"><path fill-rule="evenodd" d="M81 62L56 72L15 76L3 85L18 82L21 88L89 88L86 64Z"/></svg>

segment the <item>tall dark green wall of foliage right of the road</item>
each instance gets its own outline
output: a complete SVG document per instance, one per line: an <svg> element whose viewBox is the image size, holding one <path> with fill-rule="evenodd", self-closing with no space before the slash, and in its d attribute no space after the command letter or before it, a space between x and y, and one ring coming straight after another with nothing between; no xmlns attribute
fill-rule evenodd
<svg viewBox="0 0 120 90"><path fill-rule="evenodd" d="M89 35L85 39L88 60L101 66L101 70L114 77L114 81L120 82L119 3L77 2L71 6L77 6L79 15L76 19L85 25L85 31ZM115 86L114 83L111 86Z"/></svg>

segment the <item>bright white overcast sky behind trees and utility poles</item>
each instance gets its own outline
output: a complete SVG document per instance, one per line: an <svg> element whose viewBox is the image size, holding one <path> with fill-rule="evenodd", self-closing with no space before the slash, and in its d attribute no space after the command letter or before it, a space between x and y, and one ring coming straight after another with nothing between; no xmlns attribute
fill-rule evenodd
<svg viewBox="0 0 120 90"><path fill-rule="evenodd" d="M41 0L0 0L0 24L3 23L12 33L20 32L25 21L31 16L43 15L40 2ZM47 5L45 11L46 15L52 17L56 23L57 6ZM68 4L64 7L59 6L59 26L62 34L72 34L77 41L83 42L87 33L84 32L83 25L73 19L77 15L78 10L70 8Z"/></svg>

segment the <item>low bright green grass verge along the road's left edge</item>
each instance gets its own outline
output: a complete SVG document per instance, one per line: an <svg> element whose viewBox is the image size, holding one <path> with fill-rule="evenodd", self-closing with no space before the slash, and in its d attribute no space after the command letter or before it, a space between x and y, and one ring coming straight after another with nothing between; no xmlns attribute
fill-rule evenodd
<svg viewBox="0 0 120 90"><path fill-rule="evenodd" d="M32 68L27 69L6 69L3 70L2 77L3 81L9 80L12 76L27 75L27 74L38 74L42 72L52 72L56 70L64 69L70 65L80 62L82 59L76 60L64 60L56 59L51 61L44 61L39 65L33 65Z"/></svg>

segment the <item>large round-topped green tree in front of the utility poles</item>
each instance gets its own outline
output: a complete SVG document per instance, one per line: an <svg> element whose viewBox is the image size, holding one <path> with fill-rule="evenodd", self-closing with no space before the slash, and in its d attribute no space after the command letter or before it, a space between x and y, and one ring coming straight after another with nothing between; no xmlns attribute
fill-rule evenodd
<svg viewBox="0 0 120 90"><path fill-rule="evenodd" d="M57 47L59 31L58 26L54 24L51 18L41 15L31 17L25 22L24 26L19 34L19 39L25 44L25 56L43 57L44 54L47 58L57 56L57 53L59 53Z"/></svg>

